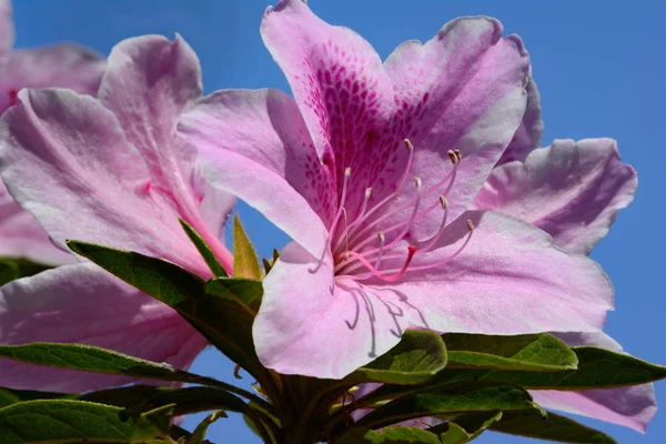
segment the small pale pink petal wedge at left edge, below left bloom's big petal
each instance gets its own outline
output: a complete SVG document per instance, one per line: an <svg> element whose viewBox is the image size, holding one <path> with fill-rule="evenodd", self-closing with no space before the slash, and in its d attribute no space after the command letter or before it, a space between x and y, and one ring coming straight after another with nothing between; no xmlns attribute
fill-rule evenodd
<svg viewBox="0 0 666 444"><path fill-rule="evenodd" d="M0 258L24 258L48 265L74 262L57 248L32 214L21 209L0 182Z"/></svg>

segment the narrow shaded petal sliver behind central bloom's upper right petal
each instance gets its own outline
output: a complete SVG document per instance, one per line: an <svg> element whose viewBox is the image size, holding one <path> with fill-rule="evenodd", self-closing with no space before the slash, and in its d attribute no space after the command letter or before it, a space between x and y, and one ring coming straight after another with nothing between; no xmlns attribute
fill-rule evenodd
<svg viewBox="0 0 666 444"><path fill-rule="evenodd" d="M544 132L544 122L541 117L541 98L538 89L532 75L529 75L527 87L527 108L525 115L518 127L513 140L506 147L498 164L507 163L514 160L524 161L527 154L541 147L542 134Z"/></svg>

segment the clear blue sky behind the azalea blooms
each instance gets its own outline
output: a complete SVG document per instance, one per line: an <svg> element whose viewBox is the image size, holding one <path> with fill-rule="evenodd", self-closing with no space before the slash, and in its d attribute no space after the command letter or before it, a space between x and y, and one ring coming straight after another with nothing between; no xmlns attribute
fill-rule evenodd
<svg viewBox="0 0 666 444"><path fill-rule="evenodd" d="M70 40L108 54L124 38L145 33L171 38L179 32L201 58L206 92L264 87L289 91L259 34L268 4L265 0L14 0L17 46ZM324 20L356 30L383 58L404 40L430 39L458 16L495 17L504 23L505 33L523 38L542 94L544 143L555 138L610 137L618 141L624 161L638 171L636 200L620 212L593 258L616 290L608 333L632 354L666 364L666 294L659 284L666 272L666 240L660 230L666 216L666 150L658 132L666 117L662 19L666 3L311 0L310 4ZM248 206L238 211L262 254L286 243L281 232ZM233 366L211 351L199 357L193 371L234 382ZM666 403L666 383L657 384L657 398ZM664 412L657 413L647 435L584 422L622 443L656 444L666 436ZM259 442L238 416L219 421L210 438ZM488 434L477 442L527 441Z"/></svg>

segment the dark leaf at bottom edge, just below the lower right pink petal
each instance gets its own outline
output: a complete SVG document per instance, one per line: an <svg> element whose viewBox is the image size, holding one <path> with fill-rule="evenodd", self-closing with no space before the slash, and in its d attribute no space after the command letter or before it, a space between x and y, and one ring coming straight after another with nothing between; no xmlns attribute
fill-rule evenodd
<svg viewBox="0 0 666 444"><path fill-rule="evenodd" d="M529 412L507 412L491 425L495 432L572 444L616 444L610 436L568 417L548 412L547 417Z"/></svg>

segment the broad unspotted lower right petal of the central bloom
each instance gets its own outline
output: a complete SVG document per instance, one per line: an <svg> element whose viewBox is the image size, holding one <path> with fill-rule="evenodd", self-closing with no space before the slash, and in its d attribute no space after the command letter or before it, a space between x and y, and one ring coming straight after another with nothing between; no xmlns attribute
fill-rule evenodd
<svg viewBox="0 0 666 444"><path fill-rule="evenodd" d="M471 242L446 264L431 268ZM415 254L404 281L386 286L417 311L412 323L438 332L523 334L599 331L613 287L594 261L552 245L545 232L493 212L467 212L436 250Z"/></svg>

